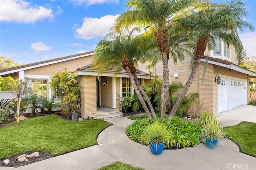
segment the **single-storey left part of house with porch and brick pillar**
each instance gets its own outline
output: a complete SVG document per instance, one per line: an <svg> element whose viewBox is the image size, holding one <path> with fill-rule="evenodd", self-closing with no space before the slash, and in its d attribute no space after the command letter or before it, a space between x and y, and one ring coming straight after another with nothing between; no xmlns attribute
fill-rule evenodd
<svg viewBox="0 0 256 170"><path fill-rule="evenodd" d="M126 71L121 70L115 75L109 69L98 76L96 70L91 70L90 63L94 51L69 55L36 63L20 65L0 71L0 76L11 76L15 80L26 79L38 96L51 99L55 93L50 89L49 82L54 73L64 71L77 73L81 85L81 116L87 118L97 112L97 106L104 106L115 110L120 109L119 97L126 91L134 94L134 89ZM144 82L150 81L150 76L144 71L137 71L138 78Z"/></svg>

